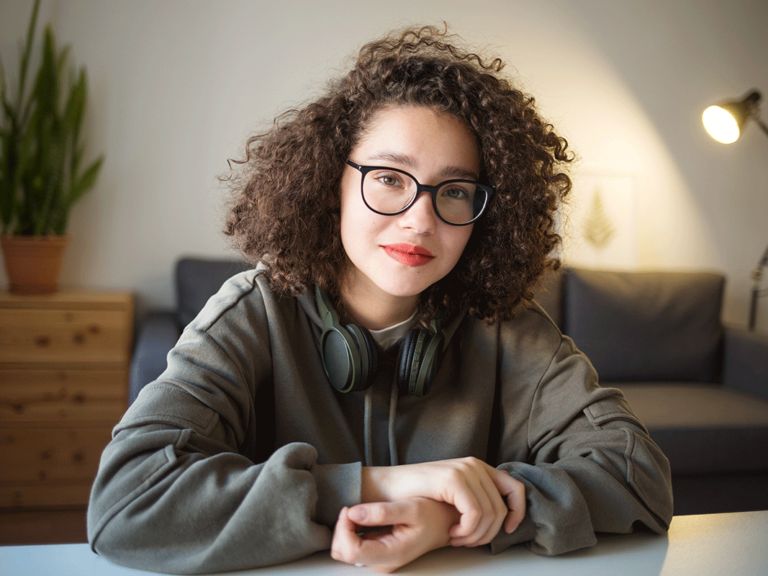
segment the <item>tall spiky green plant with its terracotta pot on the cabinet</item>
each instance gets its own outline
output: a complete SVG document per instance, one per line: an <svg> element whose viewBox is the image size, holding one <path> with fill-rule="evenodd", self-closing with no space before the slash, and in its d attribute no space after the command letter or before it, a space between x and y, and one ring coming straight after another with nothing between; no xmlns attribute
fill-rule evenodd
<svg viewBox="0 0 768 576"><path fill-rule="evenodd" d="M70 70L69 46L57 50L50 26L27 93L39 4L21 44L15 99L0 59L0 242L11 291L26 294L56 291L69 211L93 187L104 161L81 166L85 68Z"/></svg>

